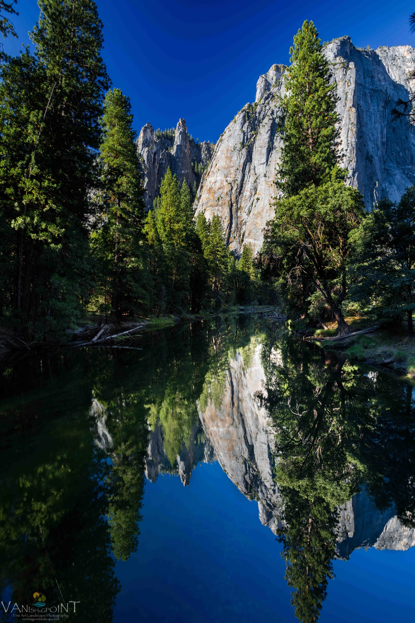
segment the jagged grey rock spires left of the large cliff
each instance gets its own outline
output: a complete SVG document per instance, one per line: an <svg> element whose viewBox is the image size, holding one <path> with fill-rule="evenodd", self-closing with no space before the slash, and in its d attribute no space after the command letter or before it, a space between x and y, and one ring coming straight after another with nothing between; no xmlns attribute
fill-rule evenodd
<svg viewBox="0 0 415 623"><path fill-rule="evenodd" d="M195 143L189 139L184 119L179 119L174 136L156 137L150 123L141 128L137 140L137 150L141 159L142 177L144 179L144 202L146 209L159 194L160 184L167 169L179 178L180 184L186 180L193 188L195 174L192 163L207 166L212 158L213 143Z"/></svg>

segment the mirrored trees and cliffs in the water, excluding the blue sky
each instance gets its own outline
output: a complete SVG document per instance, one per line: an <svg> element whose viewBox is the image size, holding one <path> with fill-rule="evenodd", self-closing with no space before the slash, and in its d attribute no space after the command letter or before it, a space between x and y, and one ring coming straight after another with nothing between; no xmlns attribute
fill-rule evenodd
<svg viewBox="0 0 415 623"><path fill-rule="evenodd" d="M145 477L188 485L200 461L218 460L258 502L300 621L319 617L333 559L415 545L411 385L253 316L140 339L142 351L4 366L0 573L12 602L37 590L80 601L73 621L111 621L114 557L139 546Z"/></svg>

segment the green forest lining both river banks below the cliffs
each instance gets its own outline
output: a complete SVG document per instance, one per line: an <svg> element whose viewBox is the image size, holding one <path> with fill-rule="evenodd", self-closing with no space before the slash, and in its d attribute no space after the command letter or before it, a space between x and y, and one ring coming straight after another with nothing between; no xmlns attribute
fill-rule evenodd
<svg viewBox="0 0 415 623"><path fill-rule="evenodd" d="M413 336L415 188L364 206L345 184L335 84L312 22L284 75L275 217L261 252L245 244L238 256L220 217L195 219L195 188L170 169L144 211L131 104L111 88L95 2L39 7L32 47L1 57L2 331L63 343L91 315L119 323L272 304L304 326L335 321L340 335L347 316L364 315L406 321ZM12 5L2 12L13 35Z"/></svg>

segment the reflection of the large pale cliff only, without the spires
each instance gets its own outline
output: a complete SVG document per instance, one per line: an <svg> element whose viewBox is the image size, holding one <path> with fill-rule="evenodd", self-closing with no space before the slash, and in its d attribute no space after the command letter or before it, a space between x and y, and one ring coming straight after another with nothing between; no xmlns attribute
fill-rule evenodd
<svg viewBox="0 0 415 623"><path fill-rule="evenodd" d="M199 417L221 467L246 497L258 501L261 522L275 532L284 519L273 481L273 432L254 398L256 392L264 391L261 345L251 349L245 360L248 365L240 352L230 359L220 404L208 400ZM277 351L271 353L271 361L281 364ZM340 558L348 558L359 547L403 550L415 545L415 529L405 528L393 510L377 510L364 490L339 511Z"/></svg>

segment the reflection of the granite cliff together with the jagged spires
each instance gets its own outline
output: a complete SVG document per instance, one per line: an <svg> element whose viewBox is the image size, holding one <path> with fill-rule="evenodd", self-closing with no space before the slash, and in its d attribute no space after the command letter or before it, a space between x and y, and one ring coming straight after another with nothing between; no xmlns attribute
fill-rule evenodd
<svg viewBox="0 0 415 623"><path fill-rule="evenodd" d="M167 437L164 438L164 426L172 428L172 421L157 416L149 435L145 472L151 482L156 482L159 473L175 473L188 485L195 465L218 460L236 487L247 498L258 502L261 523L276 533L284 524L284 517L273 479L274 434L265 409L255 398L256 392L264 393L261 356L262 345L253 338L251 345L225 356L215 372L207 375L197 404L199 421L193 421L188 432L181 434L185 442L177 445L174 454L170 452L170 459L166 447L171 449L173 445L171 439L167 442ZM281 352L272 350L269 361L277 368L282 366ZM175 393L172 396L169 413L179 426L184 407L180 407L181 411L179 407L174 410L180 400ZM97 443L102 447L108 431L105 414L95 403L91 412L96 419ZM190 407L189 403L189 412L193 408ZM159 413L163 413L162 409ZM401 525L393 510L385 513L377 510L364 490L344 503L339 512L337 555L340 558L347 559L359 547L404 550L415 546L415 530Z"/></svg>

